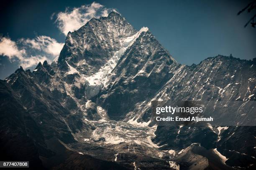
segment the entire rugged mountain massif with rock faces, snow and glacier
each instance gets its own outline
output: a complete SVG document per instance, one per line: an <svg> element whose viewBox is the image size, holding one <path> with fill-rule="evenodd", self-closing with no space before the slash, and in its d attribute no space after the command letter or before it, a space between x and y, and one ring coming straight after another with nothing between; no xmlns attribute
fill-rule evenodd
<svg viewBox="0 0 256 170"><path fill-rule="evenodd" d="M68 33L51 65L0 81L1 150L46 169L254 169L255 126L157 126L151 101L248 101L247 109L255 65L223 55L181 65L148 28L116 12L92 18ZM13 145L26 150L5 149Z"/></svg>

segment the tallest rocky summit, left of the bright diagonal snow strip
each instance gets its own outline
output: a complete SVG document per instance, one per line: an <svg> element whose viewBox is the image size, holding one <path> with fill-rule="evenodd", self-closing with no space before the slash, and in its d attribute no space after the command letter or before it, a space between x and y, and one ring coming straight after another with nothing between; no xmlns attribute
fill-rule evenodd
<svg viewBox="0 0 256 170"><path fill-rule="evenodd" d="M71 65L80 73L92 75L137 31L119 13L92 18L79 30L69 32L58 65L68 70ZM66 63L67 62L67 63Z"/></svg>

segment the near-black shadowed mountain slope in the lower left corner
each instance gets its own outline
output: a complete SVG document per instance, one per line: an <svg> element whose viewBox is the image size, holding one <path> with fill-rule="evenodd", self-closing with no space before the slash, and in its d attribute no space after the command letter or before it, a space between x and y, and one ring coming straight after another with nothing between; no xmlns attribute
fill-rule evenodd
<svg viewBox="0 0 256 170"><path fill-rule="evenodd" d="M38 150L44 148L45 144L40 128L3 80L0 80L0 93L1 160L31 160L31 168L41 169ZM42 153L44 151L41 150Z"/></svg>

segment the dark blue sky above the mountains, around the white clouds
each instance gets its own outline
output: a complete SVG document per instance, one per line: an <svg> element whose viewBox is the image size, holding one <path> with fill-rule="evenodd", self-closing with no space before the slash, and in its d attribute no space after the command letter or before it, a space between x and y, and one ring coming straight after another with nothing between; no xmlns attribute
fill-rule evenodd
<svg viewBox="0 0 256 170"><path fill-rule="evenodd" d="M80 7L93 1L76 0L2 0L0 34L11 40L46 35L64 42L65 36L51 20L52 13L66 7ZM239 10L246 0L97 0L117 9L137 30L148 27L159 42L180 63L198 64L218 54L241 59L256 57L256 29L243 25L252 14ZM0 79L18 68L0 56Z"/></svg>

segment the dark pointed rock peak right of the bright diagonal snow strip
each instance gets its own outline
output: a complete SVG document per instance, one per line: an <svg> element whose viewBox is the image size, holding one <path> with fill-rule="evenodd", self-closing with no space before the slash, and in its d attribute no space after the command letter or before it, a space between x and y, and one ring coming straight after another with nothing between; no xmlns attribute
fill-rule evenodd
<svg viewBox="0 0 256 170"><path fill-rule="evenodd" d="M156 92L180 67L149 30L142 32L113 69L101 92L102 106L111 119L123 119L133 106Z"/></svg>

